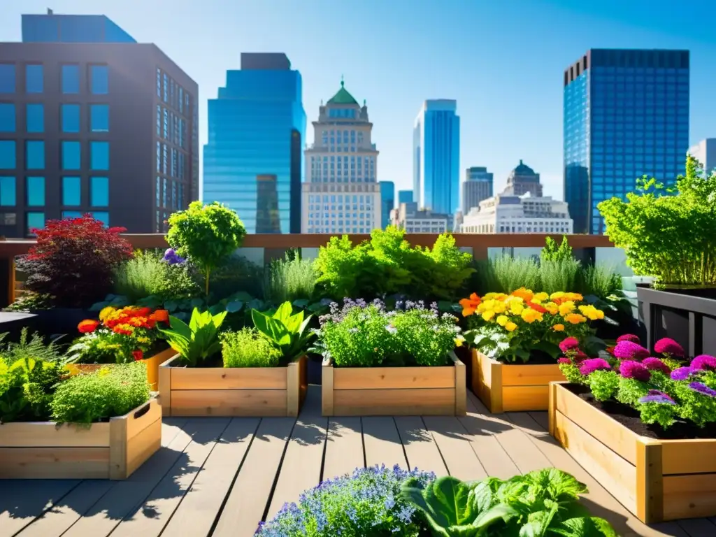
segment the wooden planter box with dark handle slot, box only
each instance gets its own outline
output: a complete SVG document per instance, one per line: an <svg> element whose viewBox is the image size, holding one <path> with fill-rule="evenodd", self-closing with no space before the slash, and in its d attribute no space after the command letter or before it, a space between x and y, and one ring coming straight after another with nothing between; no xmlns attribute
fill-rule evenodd
<svg viewBox="0 0 716 537"><path fill-rule="evenodd" d="M126 479L162 440L155 398L109 422L0 425L0 479Z"/></svg>

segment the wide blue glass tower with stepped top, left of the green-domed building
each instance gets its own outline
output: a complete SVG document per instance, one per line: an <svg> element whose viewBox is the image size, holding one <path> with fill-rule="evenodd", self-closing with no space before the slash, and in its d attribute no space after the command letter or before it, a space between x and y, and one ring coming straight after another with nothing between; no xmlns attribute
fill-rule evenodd
<svg viewBox="0 0 716 537"><path fill-rule="evenodd" d="M203 200L219 201L241 217L248 233L300 233L306 112L301 73L282 53L242 53L241 69L226 72L226 86L208 103ZM266 181L268 176L274 176ZM279 231L266 230L275 188ZM273 230L273 224L269 226Z"/></svg>

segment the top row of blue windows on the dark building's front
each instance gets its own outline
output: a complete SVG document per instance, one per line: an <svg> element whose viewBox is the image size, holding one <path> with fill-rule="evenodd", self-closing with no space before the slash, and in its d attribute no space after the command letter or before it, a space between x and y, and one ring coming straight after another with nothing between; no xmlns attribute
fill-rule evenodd
<svg viewBox="0 0 716 537"><path fill-rule="evenodd" d="M19 89L16 64L0 63L0 94L15 93ZM45 76L42 64L24 64L25 93L44 93ZM79 64L63 64L60 69L59 87L62 93L79 93ZM23 87L23 86L20 86ZM107 65L87 65L87 89L94 95L106 95L110 91L110 74Z"/></svg>

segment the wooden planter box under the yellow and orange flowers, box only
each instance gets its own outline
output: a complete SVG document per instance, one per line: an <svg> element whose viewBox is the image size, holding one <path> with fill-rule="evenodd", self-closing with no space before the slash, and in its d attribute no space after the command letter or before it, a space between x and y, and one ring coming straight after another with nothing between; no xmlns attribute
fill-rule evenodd
<svg viewBox="0 0 716 537"><path fill-rule="evenodd" d="M547 410L549 383L563 381L557 364L503 364L473 349L473 392L493 414Z"/></svg>

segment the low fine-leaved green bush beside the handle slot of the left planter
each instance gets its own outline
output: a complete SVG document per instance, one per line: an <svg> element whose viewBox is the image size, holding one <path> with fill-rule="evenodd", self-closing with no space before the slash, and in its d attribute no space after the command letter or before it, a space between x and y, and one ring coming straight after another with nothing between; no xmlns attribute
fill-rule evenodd
<svg viewBox="0 0 716 537"><path fill-rule="evenodd" d="M102 367L60 382L52 399L58 423L93 423L122 416L149 400L147 366L142 362Z"/></svg>

